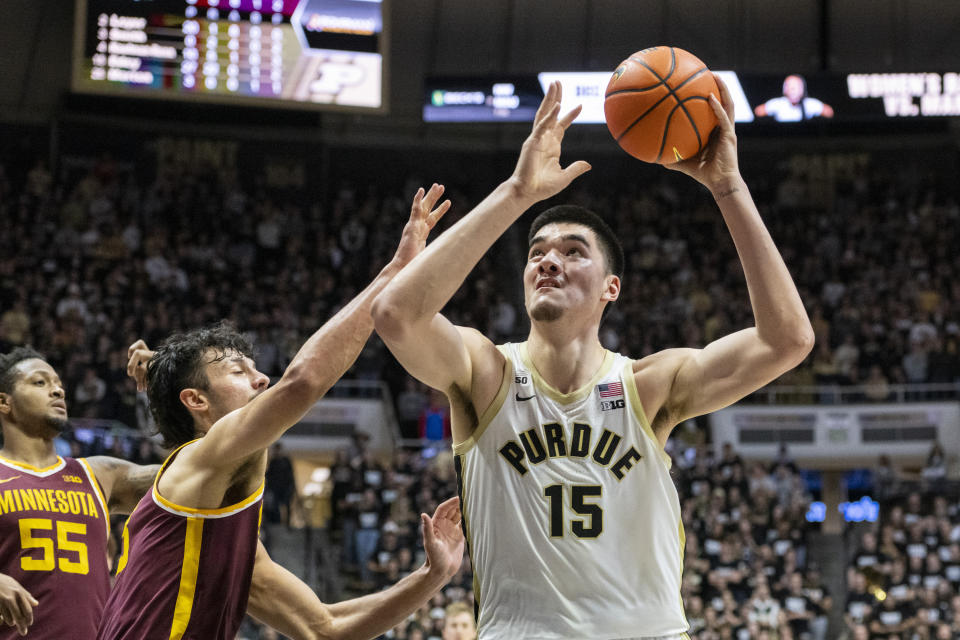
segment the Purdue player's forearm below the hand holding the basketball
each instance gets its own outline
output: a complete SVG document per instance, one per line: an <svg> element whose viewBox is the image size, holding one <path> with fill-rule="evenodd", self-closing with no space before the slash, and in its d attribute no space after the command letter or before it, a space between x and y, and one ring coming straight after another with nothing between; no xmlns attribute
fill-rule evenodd
<svg viewBox="0 0 960 640"><path fill-rule="evenodd" d="M760 337L783 348L806 345L812 335L806 309L746 183L737 176L712 192L743 265Z"/></svg>

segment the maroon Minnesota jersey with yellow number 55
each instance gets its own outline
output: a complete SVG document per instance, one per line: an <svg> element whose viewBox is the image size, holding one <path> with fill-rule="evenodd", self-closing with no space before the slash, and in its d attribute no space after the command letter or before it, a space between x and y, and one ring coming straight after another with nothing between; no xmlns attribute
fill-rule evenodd
<svg viewBox="0 0 960 640"><path fill-rule="evenodd" d="M110 518L86 460L38 469L0 457L0 572L40 603L37 640L93 640L110 592ZM0 640L19 638L0 626Z"/></svg>

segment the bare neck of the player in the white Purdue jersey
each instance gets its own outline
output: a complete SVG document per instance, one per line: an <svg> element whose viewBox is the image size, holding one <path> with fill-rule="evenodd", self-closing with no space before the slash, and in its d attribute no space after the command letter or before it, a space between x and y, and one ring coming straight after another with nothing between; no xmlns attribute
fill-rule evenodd
<svg viewBox="0 0 960 640"><path fill-rule="evenodd" d="M596 333L563 337L530 332L527 353L540 377L560 393L576 391L587 384L603 364L606 350Z"/></svg>

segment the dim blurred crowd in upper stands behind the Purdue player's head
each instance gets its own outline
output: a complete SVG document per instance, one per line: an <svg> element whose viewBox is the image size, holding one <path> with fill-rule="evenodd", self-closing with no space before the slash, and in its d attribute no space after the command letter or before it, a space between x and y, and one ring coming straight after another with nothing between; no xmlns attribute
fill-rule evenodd
<svg viewBox="0 0 960 640"><path fill-rule="evenodd" d="M0 154L0 351L31 343L59 368L72 415L133 427L144 427L147 415L123 373L129 343L155 344L230 318L256 345L258 367L278 375L389 260L409 212L404 194L419 186L340 180L325 200L310 202L216 173L145 177L109 156L61 162L56 172L43 160L24 162ZM876 401L896 383L955 383L954 189L857 167L833 176L826 196L803 171L750 180L817 334L807 362L779 382L858 384L863 399ZM633 357L703 345L752 324L715 205L682 176L651 175L616 190L584 183L562 194L601 212L624 243L623 291L602 340ZM455 185L447 195L455 209L441 229L478 197ZM525 234L508 239L446 309L495 340L526 330ZM385 379L397 396L409 391L398 406L405 435L428 426L429 393L408 382L378 339L348 377Z"/></svg>

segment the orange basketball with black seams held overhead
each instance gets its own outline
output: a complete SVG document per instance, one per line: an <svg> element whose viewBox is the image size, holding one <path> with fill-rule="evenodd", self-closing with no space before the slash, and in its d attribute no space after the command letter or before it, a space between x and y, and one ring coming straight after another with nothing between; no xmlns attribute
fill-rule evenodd
<svg viewBox="0 0 960 640"><path fill-rule="evenodd" d="M624 151L644 162L672 164L700 152L717 117L720 90L700 58L677 47L651 47L620 63L607 84L607 128Z"/></svg>

